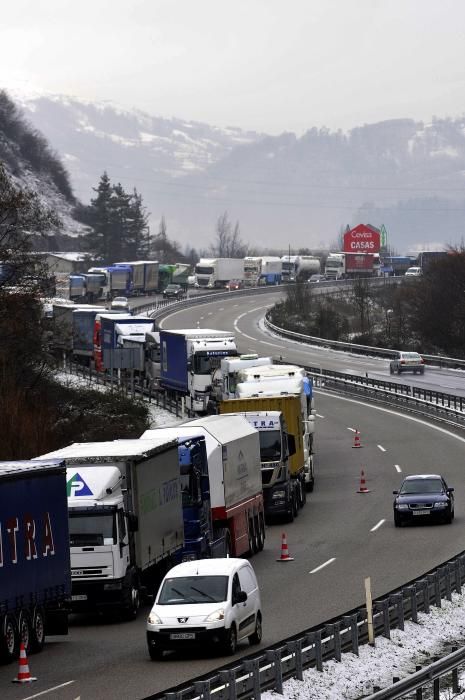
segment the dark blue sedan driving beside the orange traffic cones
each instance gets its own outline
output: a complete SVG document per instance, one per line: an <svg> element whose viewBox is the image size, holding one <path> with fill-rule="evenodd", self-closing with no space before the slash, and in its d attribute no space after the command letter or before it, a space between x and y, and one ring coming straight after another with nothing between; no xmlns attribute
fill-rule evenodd
<svg viewBox="0 0 465 700"><path fill-rule="evenodd" d="M451 523L454 519L453 491L439 474L406 476L400 489L393 491L395 526L425 519Z"/></svg>

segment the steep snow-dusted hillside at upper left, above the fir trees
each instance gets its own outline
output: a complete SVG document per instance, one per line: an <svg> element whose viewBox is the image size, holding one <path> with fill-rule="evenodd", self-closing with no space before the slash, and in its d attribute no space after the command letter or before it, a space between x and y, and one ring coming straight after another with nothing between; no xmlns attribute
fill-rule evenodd
<svg viewBox="0 0 465 700"><path fill-rule="evenodd" d="M74 249L75 237L88 228L73 216L77 202L69 174L47 139L4 91L0 91L0 161L17 186L36 192L61 220L62 226L51 230L40 247Z"/></svg>

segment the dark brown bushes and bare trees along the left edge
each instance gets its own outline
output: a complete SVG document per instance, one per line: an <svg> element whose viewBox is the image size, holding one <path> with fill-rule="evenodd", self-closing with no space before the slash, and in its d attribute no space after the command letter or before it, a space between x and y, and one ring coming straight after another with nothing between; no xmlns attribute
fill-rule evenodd
<svg viewBox="0 0 465 700"><path fill-rule="evenodd" d="M142 402L55 382L42 317L47 273L31 236L59 222L36 194L17 188L0 163L0 459L30 459L70 442L139 437Z"/></svg>

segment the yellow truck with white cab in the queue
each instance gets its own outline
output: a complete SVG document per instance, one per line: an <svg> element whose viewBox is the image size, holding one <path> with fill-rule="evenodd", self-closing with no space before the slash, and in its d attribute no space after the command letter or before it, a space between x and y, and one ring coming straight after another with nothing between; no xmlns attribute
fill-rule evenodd
<svg viewBox="0 0 465 700"><path fill-rule="evenodd" d="M242 415L258 430L265 515L292 522L306 501L300 397L227 399L219 413Z"/></svg>

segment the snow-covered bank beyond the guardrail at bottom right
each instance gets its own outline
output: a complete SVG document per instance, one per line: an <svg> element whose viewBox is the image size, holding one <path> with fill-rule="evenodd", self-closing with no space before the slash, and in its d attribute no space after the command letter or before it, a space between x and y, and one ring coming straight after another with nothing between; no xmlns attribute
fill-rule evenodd
<svg viewBox="0 0 465 700"><path fill-rule="evenodd" d="M377 637L375 647L360 646L359 656L343 654L341 663L325 661L323 671L304 671L304 680L284 683L284 695L262 693L262 700L358 700L373 693L373 686L387 688L393 677L405 678L415 672L416 665L426 666L434 656L450 653L451 646L460 647L465 640L465 595L452 594L452 602L430 608L430 614L418 613L418 624L405 622L405 630L392 630L391 639ZM450 676L448 678L450 682ZM446 682L444 682L444 686ZM465 670L460 678L465 686ZM444 689L441 699L452 697ZM465 700L465 690L453 695Z"/></svg>

